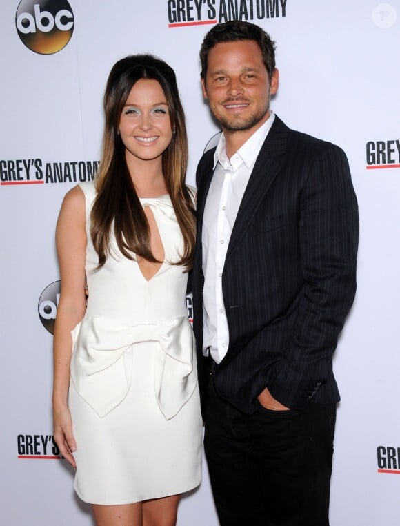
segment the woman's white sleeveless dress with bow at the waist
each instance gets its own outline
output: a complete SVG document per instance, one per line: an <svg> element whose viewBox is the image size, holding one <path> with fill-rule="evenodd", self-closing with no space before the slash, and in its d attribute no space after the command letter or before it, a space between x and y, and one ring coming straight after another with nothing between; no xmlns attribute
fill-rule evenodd
<svg viewBox="0 0 400 526"><path fill-rule="evenodd" d="M69 407L77 441L74 488L92 504L180 494L201 481L202 422L194 338L186 309L182 237L168 195L150 206L165 252L151 280L112 244L99 271L86 197L85 317L72 331Z"/></svg>

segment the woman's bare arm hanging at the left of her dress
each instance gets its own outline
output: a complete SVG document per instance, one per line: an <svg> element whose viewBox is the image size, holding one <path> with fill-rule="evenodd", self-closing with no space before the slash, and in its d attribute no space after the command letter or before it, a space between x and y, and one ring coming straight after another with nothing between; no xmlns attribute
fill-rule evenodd
<svg viewBox="0 0 400 526"><path fill-rule="evenodd" d="M56 244L59 256L61 294L54 327L54 384L53 421L54 440L61 455L75 467L71 451L77 449L72 434L72 422L67 405L70 384L72 329L86 311L85 257L86 257L85 196L79 186L70 190L63 199L57 221Z"/></svg>

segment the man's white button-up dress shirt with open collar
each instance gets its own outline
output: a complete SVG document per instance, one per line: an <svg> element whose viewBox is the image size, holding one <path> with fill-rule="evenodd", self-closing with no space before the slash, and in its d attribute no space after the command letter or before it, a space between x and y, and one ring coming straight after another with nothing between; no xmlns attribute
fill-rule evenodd
<svg viewBox="0 0 400 526"><path fill-rule="evenodd" d="M229 346L222 273L232 228L261 146L274 122L268 120L228 159L223 133L214 153L214 175L203 217L203 354L219 363Z"/></svg>

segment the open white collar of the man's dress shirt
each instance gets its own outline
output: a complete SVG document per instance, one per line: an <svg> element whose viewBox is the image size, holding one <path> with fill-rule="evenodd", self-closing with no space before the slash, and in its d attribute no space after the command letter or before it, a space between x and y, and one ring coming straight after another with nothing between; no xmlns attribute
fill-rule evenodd
<svg viewBox="0 0 400 526"><path fill-rule="evenodd" d="M259 155L261 146L263 146L263 142L266 140L272 124L274 124L274 120L275 115L271 112L271 115L268 117L266 122L264 122L264 124L260 126L260 128L255 131L249 139L247 139L247 141L239 148L239 150L237 150L237 153L234 154L239 155L243 163L246 164L247 168L250 168L255 159L257 159L257 155ZM222 166L225 166L226 162L229 162L226 155L226 143L223 133L221 133L221 137L219 137L217 149L214 153L214 169L218 162Z"/></svg>

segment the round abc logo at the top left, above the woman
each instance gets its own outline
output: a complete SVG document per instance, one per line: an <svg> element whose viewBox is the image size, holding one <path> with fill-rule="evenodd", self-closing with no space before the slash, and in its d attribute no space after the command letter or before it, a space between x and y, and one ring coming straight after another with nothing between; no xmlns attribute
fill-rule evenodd
<svg viewBox="0 0 400 526"><path fill-rule="evenodd" d="M74 14L66 0L22 0L15 14L15 25L27 48L41 55L51 55L70 41Z"/></svg>

